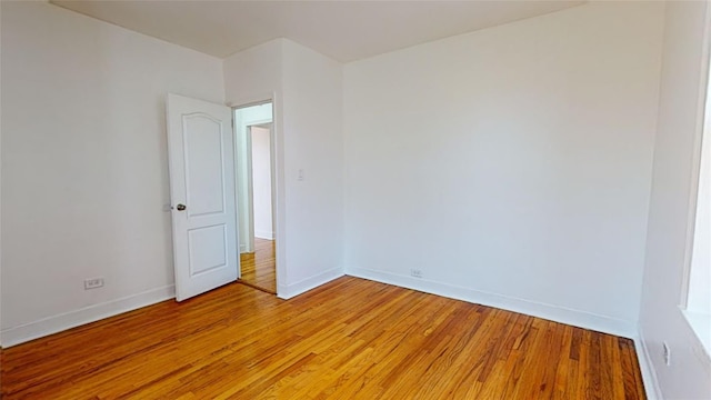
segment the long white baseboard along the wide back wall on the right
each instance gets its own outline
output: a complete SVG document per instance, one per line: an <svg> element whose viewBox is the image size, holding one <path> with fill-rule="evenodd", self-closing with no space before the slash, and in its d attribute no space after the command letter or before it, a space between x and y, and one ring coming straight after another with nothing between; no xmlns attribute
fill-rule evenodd
<svg viewBox="0 0 711 400"><path fill-rule="evenodd" d="M421 278L411 278L389 272L374 271L362 268L347 268L346 274L369 279L382 283L394 284L408 289L438 294L451 299L494 307L508 311L533 316L550 321L591 329L623 338L635 338L637 329L633 323L624 320L599 316L595 313L568 309L564 307L519 299L497 293L488 293L449 283L435 282Z"/></svg>

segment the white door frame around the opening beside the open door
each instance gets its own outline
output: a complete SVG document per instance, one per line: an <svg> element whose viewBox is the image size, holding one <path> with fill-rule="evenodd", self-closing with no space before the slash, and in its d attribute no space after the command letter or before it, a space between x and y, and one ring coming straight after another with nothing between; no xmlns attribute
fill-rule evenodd
<svg viewBox="0 0 711 400"><path fill-rule="evenodd" d="M253 96L248 98L241 98L238 101L228 103L228 107L232 109L232 119L234 120L234 111L246 107L260 106L271 102L271 123L272 129L270 132L271 139L271 163L272 163L272 223L274 226L274 273L277 277L277 297L284 292L287 281L287 266L286 266L286 202L284 202L284 150L283 150L283 131L281 124L281 103L277 98L277 93L264 93L260 96ZM234 138L237 139L237 123L232 126ZM249 138L250 136L248 136ZM237 140L234 140L234 151L237 154ZM251 156L250 156L251 158ZM251 160L249 163L251 168ZM237 169L237 163L236 163ZM236 171L237 172L237 171ZM250 171L251 172L251 171ZM237 180L238 174L234 174ZM249 178L251 180L251 177ZM237 184L237 181L236 181ZM249 184L251 187L251 182ZM239 187L238 187L239 188ZM236 191L237 196L237 191ZM236 201L239 201L236 198ZM251 212L251 211L250 211ZM238 212L239 214L239 212ZM238 221L239 222L239 221ZM252 221L253 226L253 221ZM238 248L241 238L239 237L239 229L237 231ZM238 277L241 277L241 264L239 266Z"/></svg>

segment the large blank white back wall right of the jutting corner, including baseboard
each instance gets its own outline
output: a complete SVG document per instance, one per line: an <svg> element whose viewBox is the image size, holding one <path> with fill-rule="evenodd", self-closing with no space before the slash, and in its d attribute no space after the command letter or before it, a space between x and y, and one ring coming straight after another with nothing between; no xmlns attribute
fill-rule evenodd
<svg viewBox="0 0 711 400"><path fill-rule="evenodd" d="M347 273L634 336L662 18L592 2L347 64Z"/></svg>

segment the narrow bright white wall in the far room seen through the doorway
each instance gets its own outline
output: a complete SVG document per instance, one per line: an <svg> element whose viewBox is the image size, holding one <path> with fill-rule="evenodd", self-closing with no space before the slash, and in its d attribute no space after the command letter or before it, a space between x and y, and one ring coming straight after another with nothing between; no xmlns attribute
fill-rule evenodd
<svg viewBox="0 0 711 400"><path fill-rule="evenodd" d="M254 202L254 237L272 240L271 218L271 132L252 127L252 188Z"/></svg>

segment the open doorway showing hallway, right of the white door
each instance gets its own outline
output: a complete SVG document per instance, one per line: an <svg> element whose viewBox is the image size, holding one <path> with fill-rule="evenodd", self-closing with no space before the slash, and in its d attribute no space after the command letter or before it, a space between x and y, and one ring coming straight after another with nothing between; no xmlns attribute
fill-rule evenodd
<svg viewBox="0 0 711 400"><path fill-rule="evenodd" d="M272 103L234 109L240 282L277 293Z"/></svg>

